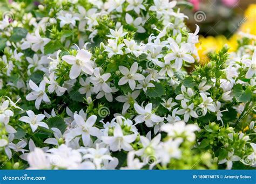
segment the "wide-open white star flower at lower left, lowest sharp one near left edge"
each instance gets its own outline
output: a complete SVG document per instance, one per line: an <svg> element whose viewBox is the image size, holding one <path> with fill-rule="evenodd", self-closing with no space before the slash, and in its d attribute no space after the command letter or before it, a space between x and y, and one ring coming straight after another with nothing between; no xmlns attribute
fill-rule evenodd
<svg viewBox="0 0 256 184"><path fill-rule="evenodd" d="M19 118L19 121L29 123L32 129L32 132L35 132L38 126L42 126L45 129L49 129L49 126L46 123L42 122L42 120L45 118L45 115L43 114L35 115L35 113L32 110L26 111L26 114L28 114L28 116L23 116Z"/></svg>

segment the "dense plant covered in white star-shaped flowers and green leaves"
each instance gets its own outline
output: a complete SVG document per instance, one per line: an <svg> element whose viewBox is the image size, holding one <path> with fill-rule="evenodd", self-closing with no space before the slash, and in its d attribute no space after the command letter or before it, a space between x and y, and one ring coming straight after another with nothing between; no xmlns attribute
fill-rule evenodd
<svg viewBox="0 0 256 184"><path fill-rule="evenodd" d="M175 1L9 6L0 21L1 168L255 166L252 39L202 66L199 27L187 29Z"/></svg>

